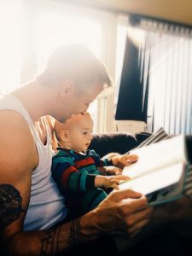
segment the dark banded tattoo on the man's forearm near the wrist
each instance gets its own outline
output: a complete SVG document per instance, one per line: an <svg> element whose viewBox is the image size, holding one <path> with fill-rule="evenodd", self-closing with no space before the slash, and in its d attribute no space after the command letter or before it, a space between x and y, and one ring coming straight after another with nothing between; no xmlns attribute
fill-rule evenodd
<svg viewBox="0 0 192 256"><path fill-rule="evenodd" d="M61 253L61 248L74 247L82 243L80 234L80 220L76 218L72 222L56 226L54 229L47 230L42 240L40 256L55 255ZM61 232L61 227L66 229ZM70 234L70 235L69 235ZM68 237L67 237L68 236Z"/></svg>

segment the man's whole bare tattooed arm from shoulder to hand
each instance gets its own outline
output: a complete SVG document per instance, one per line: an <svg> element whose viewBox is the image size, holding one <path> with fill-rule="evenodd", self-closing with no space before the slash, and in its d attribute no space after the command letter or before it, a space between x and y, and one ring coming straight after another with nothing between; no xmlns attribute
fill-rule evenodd
<svg viewBox="0 0 192 256"><path fill-rule="evenodd" d="M148 222L150 210L130 190L111 193L92 212L50 230L23 232L30 199L32 170L38 155L26 121L0 112L0 247L3 255L56 255L104 233L134 234ZM127 198L136 198L128 199ZM6 209L6 211L5 211ZM13 211L16 210L16 211Z"/></svg>

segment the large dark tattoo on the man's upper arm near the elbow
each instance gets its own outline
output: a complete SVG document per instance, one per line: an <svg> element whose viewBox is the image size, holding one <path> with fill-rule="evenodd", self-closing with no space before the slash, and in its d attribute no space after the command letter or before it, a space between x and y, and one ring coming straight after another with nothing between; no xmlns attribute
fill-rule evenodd
<svg viewBox="0 0 192 256"><path fill-rule="evenodd" d="M0 184L0 229L20 218L22 198L20 192L9 184Z"/></svg>

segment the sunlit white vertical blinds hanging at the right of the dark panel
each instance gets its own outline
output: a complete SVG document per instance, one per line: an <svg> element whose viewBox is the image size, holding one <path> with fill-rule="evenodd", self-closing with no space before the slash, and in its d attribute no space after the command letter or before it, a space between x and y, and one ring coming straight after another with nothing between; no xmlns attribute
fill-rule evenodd
<svg viewBox="0 0 192 256"><path fill-rule="evenodd" d="M143 98L141 102L141 96L135 95L135 105L140 104L140 111L147 111L148 131L163 127L171 134L192 133L192 28L132 15L127 31L119 92L135 90L137 85L129 78L125 80L125 74L127 61L138 59ZM130 57L130 42L137 49L138 58L137 54L135 59ZM127 113L134 108L129 108L129 102L126 106Z"/></svg>

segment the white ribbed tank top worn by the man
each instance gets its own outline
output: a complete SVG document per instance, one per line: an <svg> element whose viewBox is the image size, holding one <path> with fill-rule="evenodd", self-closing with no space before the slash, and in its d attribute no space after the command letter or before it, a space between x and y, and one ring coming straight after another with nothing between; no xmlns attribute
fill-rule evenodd
<svg viewBox="0 0 192 256"><path fill-rule="evenodd" d="M4 95L0 97L0 110L3 109L19 112L26 119L38 149L39 161L37 168L32 171L31 198L23 230L49 229L49 227L63 220L67 214L64 198L51 177L51 160L54 151L51 148L49 125L46 125L47 143L44 145L38 137L38 132L29 113L26 112L22 103L15 96ZM46 124L46 122L44 123Z"/></svg>

